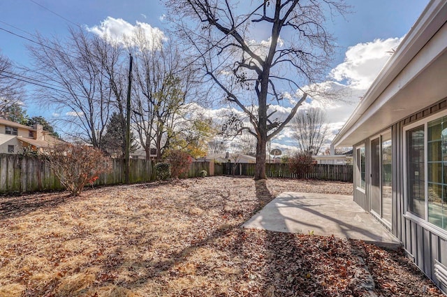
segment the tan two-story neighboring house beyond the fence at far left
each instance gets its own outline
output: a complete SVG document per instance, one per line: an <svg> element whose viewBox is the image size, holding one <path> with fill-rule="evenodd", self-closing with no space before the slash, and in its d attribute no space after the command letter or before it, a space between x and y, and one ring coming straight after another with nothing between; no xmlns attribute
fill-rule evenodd
<svg viewBox="0 0 447 297"><path fill-rule="evenodd" d="M44 131L42 125L31 127L0 118L0 154L20 154L24 149L42 152L56 143L64 142Z"/></svg>

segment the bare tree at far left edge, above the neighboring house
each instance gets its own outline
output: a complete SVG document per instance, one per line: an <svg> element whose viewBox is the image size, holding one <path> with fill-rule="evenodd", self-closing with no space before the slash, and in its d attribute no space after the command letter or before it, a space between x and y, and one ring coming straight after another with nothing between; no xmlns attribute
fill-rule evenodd
<svg viewBox="0 0 447 297"><path fill-rule="evenodd" d="M23 95L23 83L17 77L13 63L0 53L0 115L22 102Z"/></svg>

